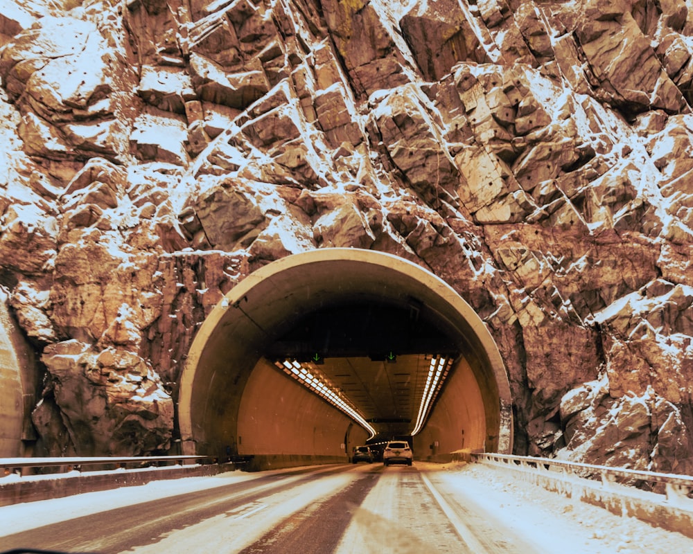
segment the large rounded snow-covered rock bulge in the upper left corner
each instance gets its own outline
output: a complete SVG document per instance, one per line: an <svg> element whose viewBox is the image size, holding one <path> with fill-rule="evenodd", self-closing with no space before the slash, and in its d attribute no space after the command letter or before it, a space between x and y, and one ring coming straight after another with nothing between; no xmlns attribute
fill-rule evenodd
<svg viewBox="0 0 693 554"><path fill-rule="evenodd" d="M101 17L107 21L112 12ZM84 19L79 19L79 17ZM0 75L23 112L18 133L37 156L123 157L134 75L119 41L77 10L42 17L0 55Z"/></svg>

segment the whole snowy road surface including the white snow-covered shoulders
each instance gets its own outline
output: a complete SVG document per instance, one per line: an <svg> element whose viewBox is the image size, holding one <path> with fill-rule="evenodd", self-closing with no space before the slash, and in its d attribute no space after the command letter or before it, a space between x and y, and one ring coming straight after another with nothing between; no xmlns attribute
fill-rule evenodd
<svg viewBox="0 0 693 554"><path fill-rule="evenodd" d="M518 497L502 478L426 463L236 472L0 508L0 544L103 554L555 553L557 544L564 554L655 553L692 544L545 491ZM615 543L622 524L627 536Z"/></svg>

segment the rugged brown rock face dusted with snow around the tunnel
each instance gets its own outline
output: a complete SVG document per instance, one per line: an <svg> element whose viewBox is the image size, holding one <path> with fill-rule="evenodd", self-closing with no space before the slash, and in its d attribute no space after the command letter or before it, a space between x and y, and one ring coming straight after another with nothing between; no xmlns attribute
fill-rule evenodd
<svg viewBox="0 0 693 554"><path fill-rule="evenodd" d="M166 450L221 295L358 247L486 321L516 452L693 471L693 15L389 4L3 4L0 283L42 359L37 452Z"/></svg>

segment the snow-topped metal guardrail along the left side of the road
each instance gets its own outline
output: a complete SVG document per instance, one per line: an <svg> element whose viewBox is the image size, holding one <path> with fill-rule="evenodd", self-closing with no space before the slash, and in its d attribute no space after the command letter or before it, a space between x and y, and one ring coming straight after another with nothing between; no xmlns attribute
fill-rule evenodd
<svg viewBox="0 0 693 554"><path fill-rule="evenodd" d="M196 460L216 461L214 456L66 456L52 458L0 458L0 468L5 474L15 473L26 467L68 467L69 470L79 470L82 465L116 465L125 467L126 464L150 464L157 462L177 462L182 465Z"/></svg>

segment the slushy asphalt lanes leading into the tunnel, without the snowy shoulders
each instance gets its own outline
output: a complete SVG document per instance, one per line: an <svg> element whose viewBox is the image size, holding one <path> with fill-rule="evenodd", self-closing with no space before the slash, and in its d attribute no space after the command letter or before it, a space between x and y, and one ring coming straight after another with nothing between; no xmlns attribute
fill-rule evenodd
<svg viewBox="0 0 693 554"><path fill-rule="evenodd" d="M105 510L0 538L69 553L527 553L435 473L380 463L256 479Z"/></svg>

